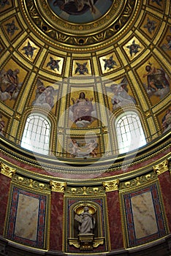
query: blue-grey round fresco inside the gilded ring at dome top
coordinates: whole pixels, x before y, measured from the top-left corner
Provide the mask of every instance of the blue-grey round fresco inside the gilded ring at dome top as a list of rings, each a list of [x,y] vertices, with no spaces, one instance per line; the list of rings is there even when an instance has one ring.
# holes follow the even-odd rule
[[[72,23],[88,23],[104,15],[113,0],[48,0],[53,12]]]

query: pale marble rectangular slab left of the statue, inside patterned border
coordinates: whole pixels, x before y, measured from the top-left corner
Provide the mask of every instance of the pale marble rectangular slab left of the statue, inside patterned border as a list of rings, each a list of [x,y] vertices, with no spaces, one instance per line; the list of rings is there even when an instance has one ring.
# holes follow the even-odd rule
[[[18,198],[15,236],[37,241],[39,199],[20,194]]]

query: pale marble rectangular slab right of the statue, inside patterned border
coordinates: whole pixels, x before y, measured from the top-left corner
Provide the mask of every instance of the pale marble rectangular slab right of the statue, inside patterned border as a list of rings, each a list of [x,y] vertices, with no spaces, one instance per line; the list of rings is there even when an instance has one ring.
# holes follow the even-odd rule
[[[131,200],[136,238],[156,233],[158,229],[151,192],[136,195]]]

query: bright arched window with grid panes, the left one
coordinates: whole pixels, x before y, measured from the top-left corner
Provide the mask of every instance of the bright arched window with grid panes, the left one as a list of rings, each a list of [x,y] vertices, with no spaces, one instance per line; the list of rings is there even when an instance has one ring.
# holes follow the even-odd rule
[[[31,114],[26,120],[20,146],[39,154],[48,154],[50,121],[39,114]]]

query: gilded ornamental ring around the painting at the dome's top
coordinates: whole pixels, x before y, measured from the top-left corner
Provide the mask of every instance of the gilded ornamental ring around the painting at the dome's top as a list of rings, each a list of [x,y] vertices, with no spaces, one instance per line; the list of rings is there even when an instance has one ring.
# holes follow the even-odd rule
[[[115,1],[113,7],[103,18],[95,19],[91,23],[76,24],[58,18],[58,15],[54,15],[45,1],[39,1],[38,5],[41,9],[39,12],[37,4],[34,2],[26,0],[26,4],[23,5],[23,8],[27,7],[26,11],[30,14],[31,23],[34,23],[39,31],[45,33],[44,36],[53,40],[58,39],[58,42],[65,42],[69,46],[80,45],[80,31],[84,45],[92,45],[109,39],[118,33],[127,22],[131,23],[130,18],[137,8],[137,1],[135,0]],[[42,17],[38,13],[42,13]],[[96,28],[100,28],[101,32],[99,33]],[[67,31],[68,33],[66,33]],[[89,34],[86,31],[94,33]]]

